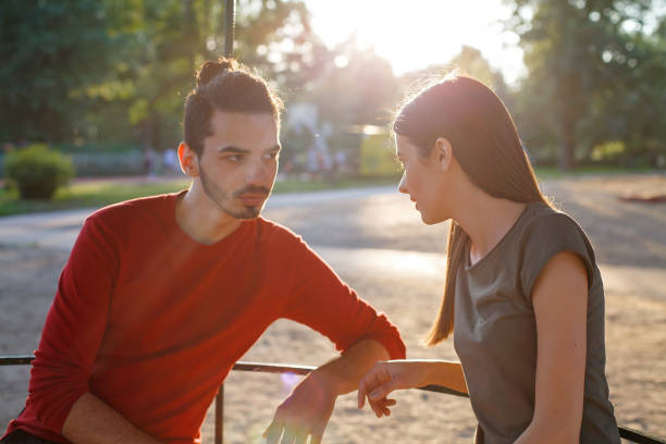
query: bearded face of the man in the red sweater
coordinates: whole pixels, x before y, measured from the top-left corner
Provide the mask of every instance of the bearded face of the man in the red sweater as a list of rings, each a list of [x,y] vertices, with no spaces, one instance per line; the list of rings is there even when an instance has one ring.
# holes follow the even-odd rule
[[[236,219],[259,215],[275,174],[280,141],[271,114],[215,111],[212,135],[197,158],[203,192],[220,209]]]

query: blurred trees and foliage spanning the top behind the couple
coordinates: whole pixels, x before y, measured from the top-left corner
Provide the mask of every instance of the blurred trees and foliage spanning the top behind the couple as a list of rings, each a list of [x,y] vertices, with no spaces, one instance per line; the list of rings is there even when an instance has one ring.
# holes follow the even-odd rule
[[[515,90],[469,47],[448,64],[395,78],[354,38],[326,48],[300,0],[238,0],[234,55],[279,84],[287,110],[316,103],[320,123],[341,130],[329,140],[335,149],[359,145],[335,140],[349,125],[387,123],[414,78],[458,66],[503,98],[539,163],[584,164],[594,147],[617,140],[624,153],[613,159],[659,164],[666,2],[505,2],[529,71]],[[222,54],[223,18],[222,0],[1,1],[0,143],[41,140],[77,152],[101,144],[175,147],[194,70]],[[293,141],[285,158],[307,148],[305,138]],[[348,159],[359,162],[357,152]]]

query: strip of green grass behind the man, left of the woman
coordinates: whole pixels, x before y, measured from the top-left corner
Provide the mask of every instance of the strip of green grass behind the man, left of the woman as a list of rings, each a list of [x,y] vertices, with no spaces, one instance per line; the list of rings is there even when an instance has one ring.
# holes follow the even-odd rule
[[[336,183],[286,180],[275,184],[273,193],[317,192],[332,188],[396,185],[396,177],[348,178]],[[0,188],[0,217],[74,208],[99,208],[137,197],[175,193],[189,186],[187,178],[157,181],[81,181],[59,189],[51,200],[21,200],[15,189]]]

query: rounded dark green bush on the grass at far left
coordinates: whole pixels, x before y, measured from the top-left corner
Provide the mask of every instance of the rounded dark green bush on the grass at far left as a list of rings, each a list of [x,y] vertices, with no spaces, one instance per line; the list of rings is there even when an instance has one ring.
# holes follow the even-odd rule
[[[4,177],[18,187],[22,199],[50,199],[73,176],[72,159],[42,144],[9,152],[4,159]]]

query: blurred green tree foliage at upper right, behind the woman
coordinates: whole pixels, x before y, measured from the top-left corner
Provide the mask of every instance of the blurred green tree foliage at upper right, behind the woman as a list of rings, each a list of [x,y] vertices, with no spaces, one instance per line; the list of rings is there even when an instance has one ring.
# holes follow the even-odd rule
[[[594,147],[621,141],[625,156],[656,165],[666,152],[664,1],[510,0],[529,75],[515,118],[531,153],[562,169]],[[661,5],[661,7],[659,7]],[[656,26],[650,26],[651,22]]]

